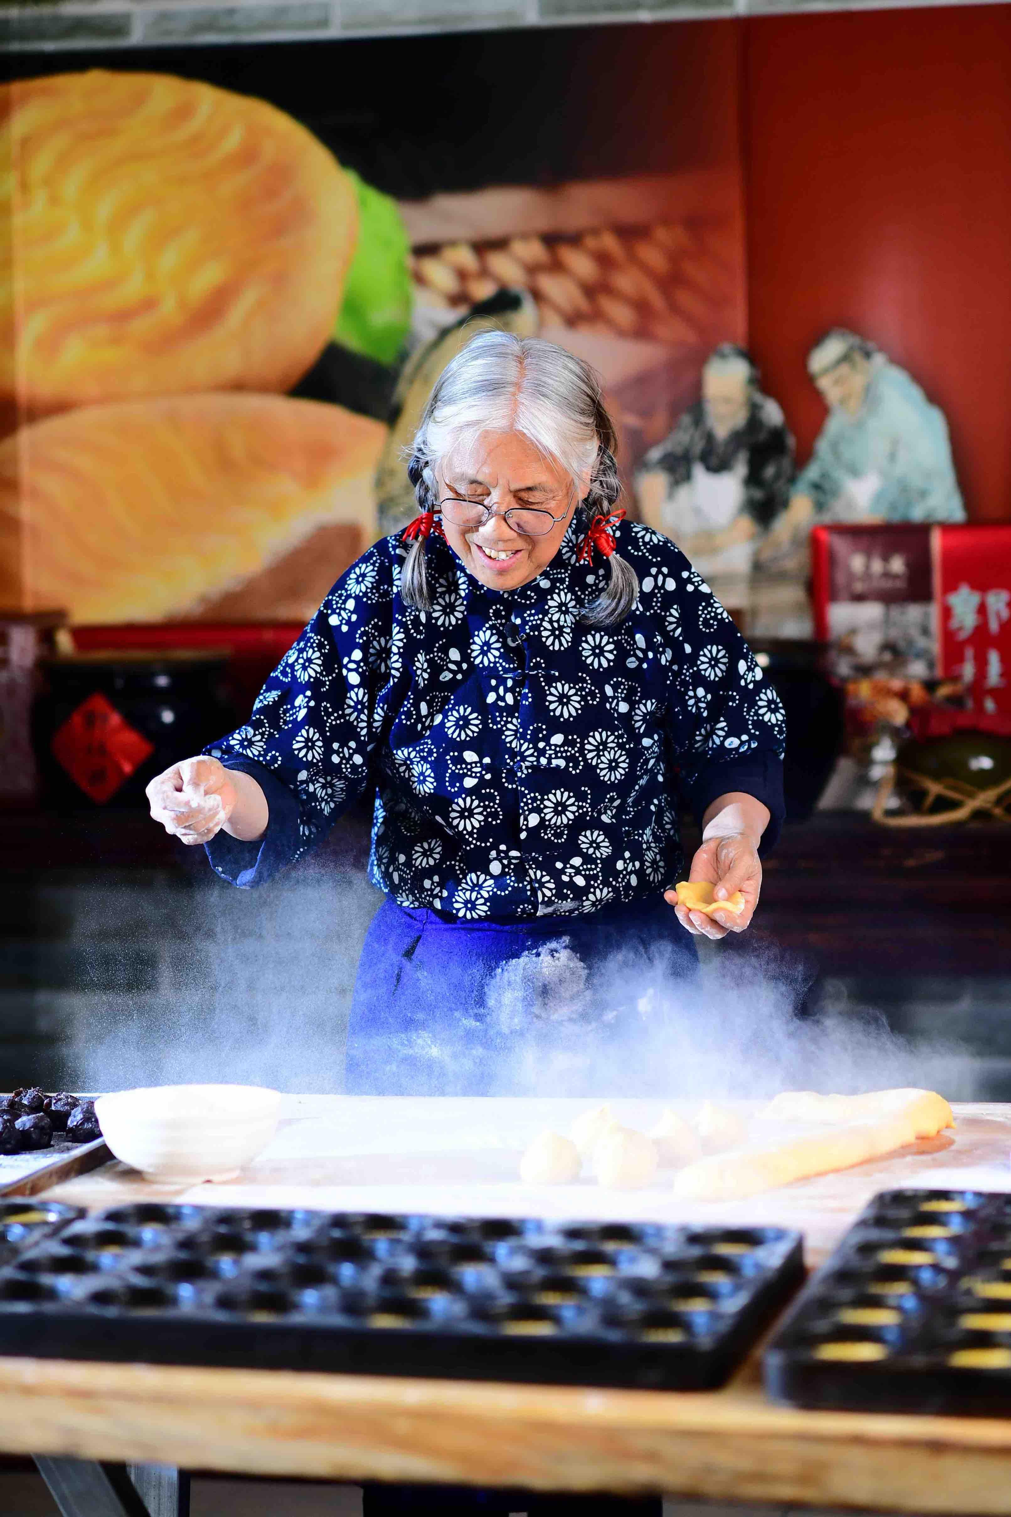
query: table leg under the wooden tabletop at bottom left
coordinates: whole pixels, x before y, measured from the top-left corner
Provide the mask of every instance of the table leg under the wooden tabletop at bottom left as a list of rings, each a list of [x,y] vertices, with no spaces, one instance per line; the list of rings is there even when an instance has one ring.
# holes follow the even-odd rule
[[[190,1476],[167,1464],[35,1455],[62,1517],[190,1517]]]

